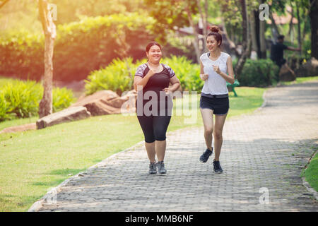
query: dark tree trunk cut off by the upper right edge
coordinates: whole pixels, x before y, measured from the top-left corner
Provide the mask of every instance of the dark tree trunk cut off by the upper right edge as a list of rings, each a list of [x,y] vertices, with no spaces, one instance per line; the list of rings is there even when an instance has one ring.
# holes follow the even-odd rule
[[[318,59],[318,0],[310,0],[310,25],[312,28],[312,57]]]

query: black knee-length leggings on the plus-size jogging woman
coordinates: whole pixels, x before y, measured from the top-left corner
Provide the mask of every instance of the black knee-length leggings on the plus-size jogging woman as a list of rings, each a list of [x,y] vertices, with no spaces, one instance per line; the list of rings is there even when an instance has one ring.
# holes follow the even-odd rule
[[[146,143],[153,143],[154,141],[165,141],[165,133],[169,125],[171,116],[137,116]]]

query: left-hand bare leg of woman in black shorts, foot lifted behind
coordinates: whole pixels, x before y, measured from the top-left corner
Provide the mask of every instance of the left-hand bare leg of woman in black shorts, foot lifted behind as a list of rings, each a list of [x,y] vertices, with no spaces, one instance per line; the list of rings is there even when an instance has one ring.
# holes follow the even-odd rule
[[[204,122],[204,138],[206,147],[212,150],[212,133],[213,133],[213,110],[208,108],[200,108],[202,119]]]

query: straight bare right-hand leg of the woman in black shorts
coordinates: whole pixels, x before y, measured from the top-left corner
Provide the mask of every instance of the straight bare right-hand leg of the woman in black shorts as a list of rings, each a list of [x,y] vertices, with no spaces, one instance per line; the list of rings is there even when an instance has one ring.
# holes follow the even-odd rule
[[[214,125],[214,131],[213,131],[214,151],[215,151],[214,160],[216,161],[219,161],[219,157],[220,157],[220,149],[223,143],[222,131],[223,131],[223,126],[224,126],[224,122],[227,115],[228,114],[216,115],[216,124]]]

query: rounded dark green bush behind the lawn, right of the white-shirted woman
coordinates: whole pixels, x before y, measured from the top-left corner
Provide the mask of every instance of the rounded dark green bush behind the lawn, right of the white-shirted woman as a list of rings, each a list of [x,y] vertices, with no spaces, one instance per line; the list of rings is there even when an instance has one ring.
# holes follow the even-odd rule
[[[240,78],[240,85],[266,87],[278,81],[278,66],[271,59],[247,59]]]

